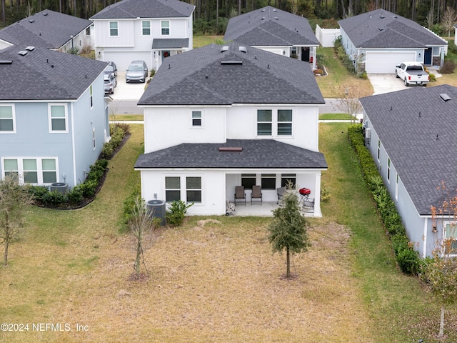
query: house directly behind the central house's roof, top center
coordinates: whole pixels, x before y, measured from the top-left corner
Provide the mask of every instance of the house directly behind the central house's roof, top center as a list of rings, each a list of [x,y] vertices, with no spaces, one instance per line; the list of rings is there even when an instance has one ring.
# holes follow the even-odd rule
[[[308,19],[271,6],[229,20],[224,41],[236,41],[275,54],[297,56],[316,69],[319,41]]]

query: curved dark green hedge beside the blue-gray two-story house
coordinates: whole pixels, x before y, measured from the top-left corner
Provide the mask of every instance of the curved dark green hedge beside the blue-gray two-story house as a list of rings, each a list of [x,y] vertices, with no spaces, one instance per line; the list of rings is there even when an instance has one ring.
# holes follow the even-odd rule
[[[89,204],[101,189],[106,173],[108,172],[108,159],[111,159],[122,146],[124,138],[130,134],[126,124],[110,126],[111,140],[101,149],[99,159],[91,165],[89,173],[83,183],[73,187],[69,192],[50,192],[45,186],[29,187],[34,204],[41,207],[54,209],[76,209]]]

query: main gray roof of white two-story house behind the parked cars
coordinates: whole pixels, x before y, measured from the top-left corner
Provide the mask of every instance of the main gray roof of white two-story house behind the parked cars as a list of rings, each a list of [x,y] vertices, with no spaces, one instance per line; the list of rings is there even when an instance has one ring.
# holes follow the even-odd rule
[[[194,9],[194,5],[178,0],[122,0],[105,7],[91,19],[186,18]]]

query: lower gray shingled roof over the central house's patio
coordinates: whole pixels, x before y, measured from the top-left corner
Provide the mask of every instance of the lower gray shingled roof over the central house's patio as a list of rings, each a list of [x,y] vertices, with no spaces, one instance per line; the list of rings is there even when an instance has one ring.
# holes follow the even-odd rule
[[[219,147],[239,146],[243,151],[219,151]],[[221,144],[185,143],[142,154],[135,168],[327,169],[327,162],[321,152],[273,139],[227,139]]]

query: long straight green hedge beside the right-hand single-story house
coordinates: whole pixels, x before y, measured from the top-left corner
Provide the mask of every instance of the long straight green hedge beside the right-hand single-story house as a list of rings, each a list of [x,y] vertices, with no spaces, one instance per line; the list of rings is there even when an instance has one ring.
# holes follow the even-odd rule
[[[383,179],[379,175],[370,151],[366,149],[361,124],[349,126],[348,139],[356,151],[363,178],[373,195],[379,217],[381,217],[386,232],[391,239],[398,267],[406,274],[417,275],[421,268],[421,259],[413,247],[413,242],[409,242],[406,229],[403,226],[403,222],[401,222],[395,203],[383,184]]]

